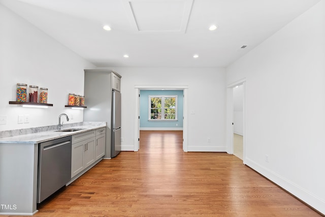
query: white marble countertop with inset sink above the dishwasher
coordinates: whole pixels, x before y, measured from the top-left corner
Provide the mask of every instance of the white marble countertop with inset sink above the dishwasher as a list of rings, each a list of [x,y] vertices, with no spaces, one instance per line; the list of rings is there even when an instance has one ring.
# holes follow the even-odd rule
[[[12,136],[12,137],[6,137],[0,139],[0,145],[1,144],[17,144],[17,143],[28,143],[28,144],[36,144],[41,142],[46,142],[53,139],[58,139],[66,136],[71,136],[99,128],[106,127],[106,122],[93,122],[86,125],[76,126],[76,127],[68,127],[68,128],[62,128],[63,129],[82,129],[75,132],[57,132],[57,130],[52,131],[44,131],[39,133],[31,133],[31,134],[25,134],[20,136]]]

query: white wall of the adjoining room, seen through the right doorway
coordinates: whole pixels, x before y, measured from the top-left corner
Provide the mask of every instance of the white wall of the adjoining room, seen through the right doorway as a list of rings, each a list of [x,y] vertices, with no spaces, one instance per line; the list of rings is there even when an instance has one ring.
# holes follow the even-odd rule
[[[233,88],[234,133],[243,136],[243,85]]]

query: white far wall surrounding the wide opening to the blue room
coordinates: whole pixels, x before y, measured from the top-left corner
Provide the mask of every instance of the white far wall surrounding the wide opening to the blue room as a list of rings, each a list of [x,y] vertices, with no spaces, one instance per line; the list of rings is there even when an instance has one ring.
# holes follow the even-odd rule
[[[114,68],[121,78],[122,149],[134,150],[135,86],[188,85],[188,151],[225,150],[223,68]],[[195,110],[195,114],[190,114]],[[211,142],[208,142],[208,138]]]

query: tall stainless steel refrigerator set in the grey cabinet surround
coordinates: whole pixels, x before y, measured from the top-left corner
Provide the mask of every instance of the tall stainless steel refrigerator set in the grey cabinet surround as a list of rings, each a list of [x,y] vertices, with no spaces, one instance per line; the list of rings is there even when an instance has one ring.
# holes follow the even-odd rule
[[[121,151],[121,93],[112,90],[111,158]]]

